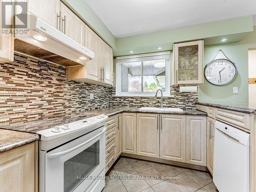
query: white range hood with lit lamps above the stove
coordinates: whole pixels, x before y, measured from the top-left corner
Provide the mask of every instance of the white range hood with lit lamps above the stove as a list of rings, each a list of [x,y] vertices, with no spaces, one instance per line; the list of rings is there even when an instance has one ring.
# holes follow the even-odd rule
[[[94,58],[92,51],[34,15],[28,14],[28,29],[28,35],[15,36],[15,51],[66,67]]]

